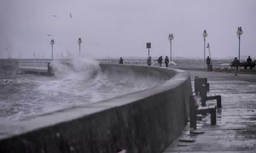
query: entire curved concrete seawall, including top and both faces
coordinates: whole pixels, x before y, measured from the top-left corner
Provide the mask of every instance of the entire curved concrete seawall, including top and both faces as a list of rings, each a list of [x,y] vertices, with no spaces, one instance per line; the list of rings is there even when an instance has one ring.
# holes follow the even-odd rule
[[[129,153],[160,153],[181,134],[192,94],[188,72],[138,65],[100,66],[114,82],[126,78],[125,85],[134,79],[160,84],[0,125],[0,152],[114,153],[121,148]]]

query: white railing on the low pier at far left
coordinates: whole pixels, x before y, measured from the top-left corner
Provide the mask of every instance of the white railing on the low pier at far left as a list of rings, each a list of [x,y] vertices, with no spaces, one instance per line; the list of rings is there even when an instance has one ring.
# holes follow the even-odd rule
[[[18,67],[48,69],[49,61],[19,61]]]

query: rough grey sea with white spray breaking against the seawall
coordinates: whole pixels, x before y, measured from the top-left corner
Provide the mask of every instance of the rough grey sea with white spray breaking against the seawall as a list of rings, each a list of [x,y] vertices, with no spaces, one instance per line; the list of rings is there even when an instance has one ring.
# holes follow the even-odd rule
[[[54,76],[17,73],[18,61],[18,59],[0,59],[0,124],[152,88],[146,84],[136,85],[135,83],[131,87],[124,87],[123,82],[109,82],[99,64],[95,62],[111,61],[111,64],[118,64],[119,59],[96,59],[95,61],[84,58],[75,59],[73,71],[56,63],[53,64],[56,70]],[[44,59],[44,61],[50,60]],[[125,63],[126,61],[146,61],[146,59],[123,59],[123,61]],[[158,66],[156,59],[152,61],[154,66]],[[231,61],[213,60],[213,68],[229,67]],[[162,66],[165,67],[165,64]],[[172,60],[172,68],[189,67],[202,68],[204,60]]]

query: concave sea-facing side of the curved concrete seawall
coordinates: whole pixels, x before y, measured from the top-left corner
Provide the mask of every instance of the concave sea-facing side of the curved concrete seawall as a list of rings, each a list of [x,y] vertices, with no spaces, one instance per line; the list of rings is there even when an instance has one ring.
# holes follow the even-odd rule
[[[123,82],[126,87],[134,84],[154,87],[175,75],[175,71],[161,71],[159,67],[125,64],[100,64],[100,66],[111,82]]]

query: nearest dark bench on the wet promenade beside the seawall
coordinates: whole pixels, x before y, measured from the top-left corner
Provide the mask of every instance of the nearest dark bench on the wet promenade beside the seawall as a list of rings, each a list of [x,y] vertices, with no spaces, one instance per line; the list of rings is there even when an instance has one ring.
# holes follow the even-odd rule
[[[197,105],[197,96],[196,93],[193,93],[189,97],[189,103],[190,103],[190,128],[197,128],[197,115],[198,114],[205,114],[210,113],[211,114],[211,124],[216,124],[216,106],[204,106],[204,107],[198,107]]]

